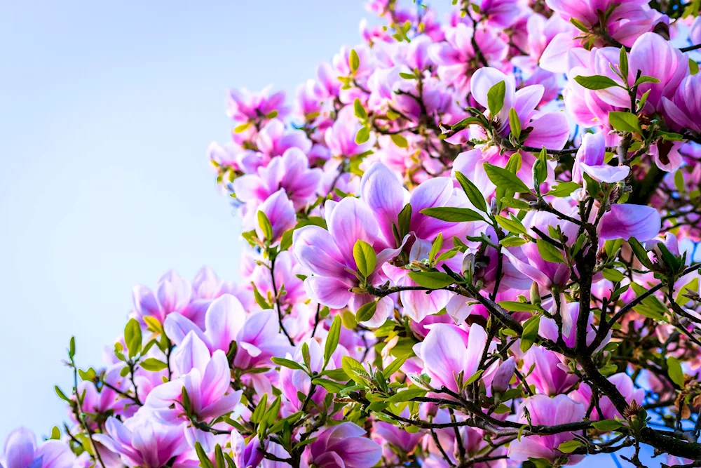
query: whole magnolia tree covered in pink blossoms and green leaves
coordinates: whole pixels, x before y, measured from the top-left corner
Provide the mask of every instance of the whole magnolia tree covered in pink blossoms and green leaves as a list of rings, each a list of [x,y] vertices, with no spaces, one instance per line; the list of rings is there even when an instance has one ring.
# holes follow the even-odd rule
[[[229,93],[244,281],[137,286],[5,468],[701,466],[700,2],[453,4]]]

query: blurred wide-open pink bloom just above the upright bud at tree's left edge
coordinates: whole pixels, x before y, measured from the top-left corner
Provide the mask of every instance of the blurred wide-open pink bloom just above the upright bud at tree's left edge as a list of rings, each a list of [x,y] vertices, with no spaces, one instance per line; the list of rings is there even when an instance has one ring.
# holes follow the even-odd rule
[[[306,154],[299,148],[290,148],[258,168],[256,174],[236,178],[233,190],[237,199],[258,205],[285,189],[294,207],[301,208],[315,195],[320,178],[321,169],[310,169]]]

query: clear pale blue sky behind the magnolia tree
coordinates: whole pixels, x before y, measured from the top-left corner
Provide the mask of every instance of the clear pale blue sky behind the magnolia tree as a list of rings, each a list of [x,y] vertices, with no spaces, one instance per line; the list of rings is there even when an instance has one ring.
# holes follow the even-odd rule
[[[67,419],[69,338],[99,365],[132,286],[202,265],[237,278],[239,223],[205,155],[229,138],[226,89],[291,97],[368,16],[357,0],[0,4],[0,443]]]

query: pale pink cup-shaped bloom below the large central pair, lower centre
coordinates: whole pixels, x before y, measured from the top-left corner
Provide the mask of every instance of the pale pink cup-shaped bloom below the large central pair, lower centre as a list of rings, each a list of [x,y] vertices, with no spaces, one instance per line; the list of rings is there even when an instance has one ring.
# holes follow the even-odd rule
[[[473,324],[467,330],[447,323],[436,323],[426,338],[416,345],[416,355],[423,360],[423,371],[431,385],[459,393],[457,378],[463,382],[477,372],[479,358],[487,345],[484,328]]]

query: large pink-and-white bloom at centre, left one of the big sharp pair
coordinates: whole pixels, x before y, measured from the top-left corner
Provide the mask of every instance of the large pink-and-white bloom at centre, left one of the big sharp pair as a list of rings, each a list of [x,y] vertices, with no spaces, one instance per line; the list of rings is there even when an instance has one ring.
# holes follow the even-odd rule
[[[304,280],[307,294],[315,302],[340,309],[353,297],[350,289],[358,286],[358,278],[348,271],[356,270],[353,246],[362,240],[373,246],[377,262],[367,275],[370,284],[381,278],[382,265],[400,253],[401,248],[384,248],[379,242],[379,225],[372,210],[360,199],[348,196],[339,203],[327,201],[325,213],[329,230],[305,226],[293,234],[294,255],[314,276]]]

